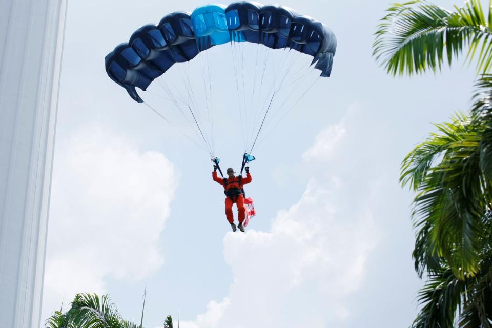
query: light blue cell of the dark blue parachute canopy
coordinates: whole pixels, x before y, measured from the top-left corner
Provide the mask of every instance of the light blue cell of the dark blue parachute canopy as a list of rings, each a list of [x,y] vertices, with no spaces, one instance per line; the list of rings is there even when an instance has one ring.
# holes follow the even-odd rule
[[[196,8],[191,14],[191,22],[200,51],[231,41],[224,5],[206,5]]]

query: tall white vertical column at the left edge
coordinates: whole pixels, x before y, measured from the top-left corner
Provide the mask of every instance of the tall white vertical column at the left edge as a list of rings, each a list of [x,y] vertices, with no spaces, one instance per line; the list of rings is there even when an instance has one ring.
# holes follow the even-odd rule
[[[2,328],[41,319],[66,1],[0,0]]]

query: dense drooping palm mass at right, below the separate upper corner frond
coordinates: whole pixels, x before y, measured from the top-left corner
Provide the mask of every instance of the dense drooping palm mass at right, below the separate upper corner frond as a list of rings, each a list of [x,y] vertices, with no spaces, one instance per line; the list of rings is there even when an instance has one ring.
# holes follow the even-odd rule
[[[485,91],[482,94],[480,91]],[[402,163],[417,192],[415,269],[427,282],[415,327],[490,327],[492,319],[492,76],[469,115],[438,124]],[[456,317],[457,310],[461,314]]]

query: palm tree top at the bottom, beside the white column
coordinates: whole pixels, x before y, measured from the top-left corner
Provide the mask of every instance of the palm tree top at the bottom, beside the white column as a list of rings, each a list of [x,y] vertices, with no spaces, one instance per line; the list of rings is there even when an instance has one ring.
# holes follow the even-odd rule
[[[145,295],[144,295],[145,306]],[[142,321],[144,310],[142,309]],[[169,325],[170,322],[170,325]],[[166,318],[165,328],[172,328],[172,318]],[[77,294],[66,313],[55,311],[46,321],[46,328],[142,328],[142,322],[124,320],[108,295]]]

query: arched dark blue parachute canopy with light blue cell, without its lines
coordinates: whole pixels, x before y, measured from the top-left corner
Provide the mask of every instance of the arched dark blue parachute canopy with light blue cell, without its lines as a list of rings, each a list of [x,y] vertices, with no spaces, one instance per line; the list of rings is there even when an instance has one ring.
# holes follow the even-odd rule
[[[175,63],[193,59],[200,51],[228,42],[261,43],[272,49],[290,48],[313,56],[312,65],[328,77],[333,66],[335,34],[312,17],[293,9],[238,1],[174,12],[157,26],[135,31],[129,43],[106,56],[106,72],[130,96],[142,103],[135,87],[146,90]]]

